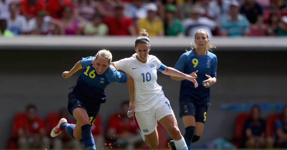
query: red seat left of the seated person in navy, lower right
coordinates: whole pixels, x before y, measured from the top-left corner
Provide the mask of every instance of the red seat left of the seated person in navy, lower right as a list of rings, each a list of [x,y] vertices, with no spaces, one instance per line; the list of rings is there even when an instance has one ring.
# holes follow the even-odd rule
[[[240,143],[242,142],[245,120],[250,116],[250,113],[241,113],[236,118],[234,126],[234,135],[231,142],[235,146],[237,146],[237,148],[240,147]]]

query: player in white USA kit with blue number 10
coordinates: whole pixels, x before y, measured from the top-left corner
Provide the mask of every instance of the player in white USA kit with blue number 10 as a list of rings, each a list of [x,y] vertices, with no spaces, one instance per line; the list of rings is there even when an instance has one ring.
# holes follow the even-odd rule
[[[198,84],[194,77],[167,67],[153,55],[149,55],[151,50],[148,33],[141,29],[135,40],[135,54],[130,58],[125,58],[111,65],[117,70],[122,70],[131,76],[135,84],[135,100],[130,101],[130,108],[135,107],[135,122],[138,124],[144,141],[150,148],[158,146],[157,120],[165,127],[173,138],[176,149],[187,150],[186,143],[181,135],[173,110],[169,100],[165,97],[162,87],[157,84],[157,71],[170,76],[178,76]]]

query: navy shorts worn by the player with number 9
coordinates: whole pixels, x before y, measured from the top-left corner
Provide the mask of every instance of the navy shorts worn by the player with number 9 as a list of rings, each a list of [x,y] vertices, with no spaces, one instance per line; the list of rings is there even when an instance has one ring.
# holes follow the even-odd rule
[[[207,105],[198,105],[191,101],[180,101],[179,117],[192,115],[195,117],[195,122],[205,123],[207,108]]]

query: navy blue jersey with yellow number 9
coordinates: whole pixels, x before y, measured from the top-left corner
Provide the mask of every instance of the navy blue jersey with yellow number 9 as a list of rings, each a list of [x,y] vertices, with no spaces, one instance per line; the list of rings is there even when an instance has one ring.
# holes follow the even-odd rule
[[[208,78],[205,74],[216,77],[217,57],[212,52],[207,51],[203,56],[197,55],[194,50],[183,53],[178,59],[175,69],[185,74],[190,74],[197,71],[198,87],[195,88],[194,84],[188,80],[181,81],[180,87],[180,101],[186,100],[186,96],[190,97],[190,101],[199,105],[209,105],[209,88],[202,85],[204,80]],[[185,97],[181,99],[181,97]]]

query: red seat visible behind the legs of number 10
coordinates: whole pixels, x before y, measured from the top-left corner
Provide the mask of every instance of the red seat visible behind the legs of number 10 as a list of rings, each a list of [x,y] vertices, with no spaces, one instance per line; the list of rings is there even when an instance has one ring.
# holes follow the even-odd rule
[[[170,141],[170,138],[168,137],[168,133],[165,127],[160,122],[157,122],[157,132],[158,132],[158,146],[156,149],[167,149],[168,141]],[[150,149],[150,148],[146,143],[144,143],[143,146],[141,146],[141,149]]]

